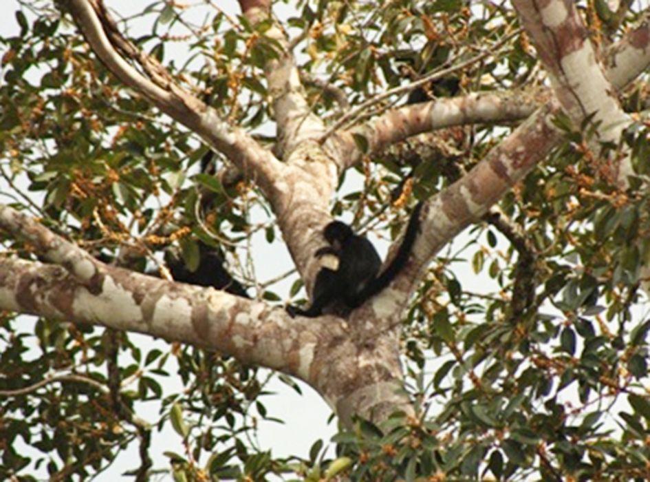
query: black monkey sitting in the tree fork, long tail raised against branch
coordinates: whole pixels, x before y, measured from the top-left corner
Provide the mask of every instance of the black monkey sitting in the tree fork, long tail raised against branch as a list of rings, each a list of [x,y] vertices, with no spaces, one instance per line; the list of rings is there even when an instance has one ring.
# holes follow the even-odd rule
[[[406,264],[420,227],[422,202],[413,209],[404,240],[389,266],[379,273],[382,260],[373,244],[355,234],[345,222],[332,221],[323,230],[328,247],[316,251],[317,258],[334,255],[338,266],[323,266],[314,282],[312,304],[307,310],[288,306],[291,316],[316,317],[324,308],[345,308],[347,311],[363,304],[365,300],[386,288]]]

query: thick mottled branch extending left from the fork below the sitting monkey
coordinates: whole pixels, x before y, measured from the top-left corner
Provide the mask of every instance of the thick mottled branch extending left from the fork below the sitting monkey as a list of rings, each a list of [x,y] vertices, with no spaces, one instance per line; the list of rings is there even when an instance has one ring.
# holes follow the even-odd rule
[[[282,308],[224,291],[105,271],[87,286],[59,266],[0,258],[0,308],[218,350],[305,380],[321,343],[345,333],[334,317],[290,319]]]

